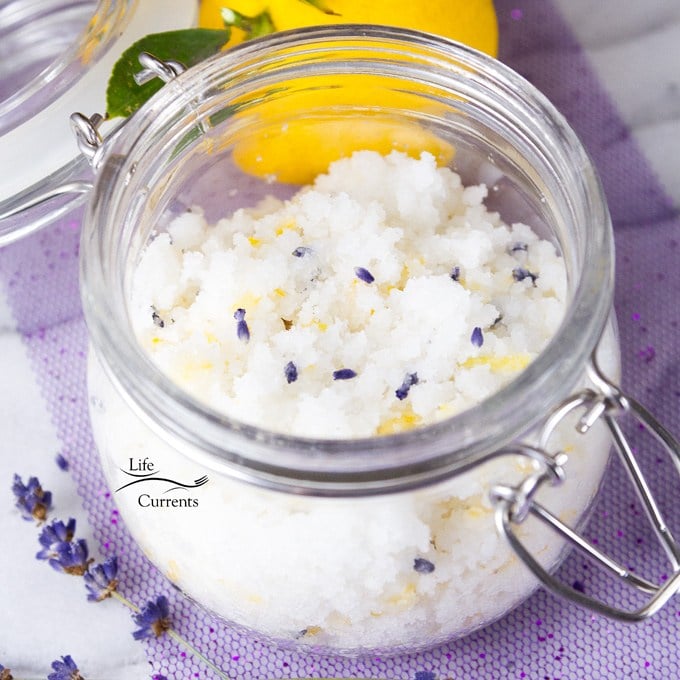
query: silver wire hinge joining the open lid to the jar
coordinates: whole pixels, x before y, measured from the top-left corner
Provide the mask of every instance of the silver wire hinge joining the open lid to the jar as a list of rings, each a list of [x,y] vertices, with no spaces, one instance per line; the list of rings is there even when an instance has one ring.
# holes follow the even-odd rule
[[[134,76],[135,82],[138,85],[143,85],[154,78],[160,78],[168,83],[186,70],[186,66],[178,61],[163,61],[148,52],[142,52],[139,55],[139,63],[142,66],[142,70]],[[71,129],[76,137],[78,149],[96,172],[106,155],[104,151],[104,138],[99,131],[106,118],[99,113],[88,117],[77,112],[73,113],[70,118]],[[113,139],[123,129],[125,123],[126,121],[123,121],[118,125],[110,133],[107,141]],[[9,208],[0,212],[0,220],[15,217],[60,196],[89,193],[93,186],[90,180],[80,179],[69,181],[68,183],[60,184],[41,192],[19,196]],[[24,194],[26,193],[24,192]],[[43,223],[41,222],[41,224]]]

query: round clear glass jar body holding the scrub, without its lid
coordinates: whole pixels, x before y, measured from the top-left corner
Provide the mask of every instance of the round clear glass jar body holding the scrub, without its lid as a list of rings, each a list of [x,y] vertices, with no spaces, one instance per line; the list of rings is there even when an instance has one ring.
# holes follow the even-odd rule
[[[357,75],[370,84],[360,95]],[[465,183],[491,186],[506,222],[557,245],[564,319],[508,385],[435,424],[337,440],[236,421],[174,384],[136,340],[140,255],[187,207],[228,215],[289,193],[238,169],[243,140],[366,118],[435,133]],[[540,93],[433,36],[308,29],[170,80],[101,152],[82,242],[92,425],[121,515],[177,587],[259,636],[345,654],[431,646],[502,616],[536,576],[553,587],[576,542],[566,523],[578,527],[605,471],[609,414],[628,402],[603,377],[618,375],[619,356],[602,189]],[[524,521],[546,507],[547,522]]]

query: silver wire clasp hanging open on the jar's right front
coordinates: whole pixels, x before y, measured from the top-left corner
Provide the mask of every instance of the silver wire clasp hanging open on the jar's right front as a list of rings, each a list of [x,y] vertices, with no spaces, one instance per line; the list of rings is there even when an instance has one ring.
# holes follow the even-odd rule
[[[647,480],[633,456],[618,418],[621,415],[628,414],[643,425],[671,457],[679,474],[680,443],[649,411],[634,399],[624,395],[617,385],[604,376],[594,356],[588,367],[588,376],[595,389],[583,390],[568,398],[555,409],[545,421],[536,446],[519,444],[503,451],[504,454],[530,456],[533,460],[539,462],[539,469],[516,486],[499,484],[492,488],[490,495],[495,506],[496,528],[505,536],[515,553],[531,569],[539,581],[555,594],[610,618],[622,621],[640,621],[656,613],[680,591],[680,546],[659,510]],[[565,417],[579,409],[583,413],[576,424],[578,432],[586,433],[599,420],[604,421],[609,429],[618,458],[623,463],[635,492],[642,501],[650,524],[671,564],[672,573],[664,583],[653,583],[633,574],[629,569],[583,538],[578,532],[564,524],[538,503],[535,498],[538,490],[546,483],[555,485],[561,483],[564,479],[562,466],[566,457],[562,452],[551,454],[549,452],[549,440],[555,428]],[[556,579],[527,550],[515,531],[515,527],[524,522],[529,515],[541,520],[568,544],[586,554],[607,573],[614,575],[628,586],[648,596],[646,604],[636,610],[617,608],[589,597]]]

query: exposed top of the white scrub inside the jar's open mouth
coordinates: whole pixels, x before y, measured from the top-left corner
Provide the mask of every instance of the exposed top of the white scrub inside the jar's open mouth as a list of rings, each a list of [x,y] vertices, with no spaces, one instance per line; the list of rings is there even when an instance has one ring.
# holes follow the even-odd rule
[[[158,367],[214,409],[306,437],[446,418],[524,368],[562,317],[553,245],[423,154],[360,152],[291,200],[148,246],[131,314]]]

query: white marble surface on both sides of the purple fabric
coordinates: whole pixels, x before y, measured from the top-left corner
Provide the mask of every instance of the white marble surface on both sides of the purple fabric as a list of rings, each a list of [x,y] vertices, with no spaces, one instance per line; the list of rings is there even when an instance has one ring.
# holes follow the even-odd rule
[[[518,3],[521,4],[521,3]],[[557,0],[623,119],[676,205],[680,206],[680,1]],[[60,516],[80,518],[68,475],[24,348],[0,299],[0,482],[21,461],[55,493]],[[6,499],[3,491],[0,496]],[[93,605],[82,583],[34,559],[35,528],[0,503],[0,663],[16,678],[44,678],[49,662],[70,653],[92,679],[149,677],[144,648],[132,640],[129,614],[117,603]],[[87,532],[86,534],[87,535]],[[94,545],[94,541],[92,541]],[[64,612],[68,610],[68,616]]]

